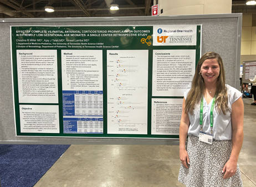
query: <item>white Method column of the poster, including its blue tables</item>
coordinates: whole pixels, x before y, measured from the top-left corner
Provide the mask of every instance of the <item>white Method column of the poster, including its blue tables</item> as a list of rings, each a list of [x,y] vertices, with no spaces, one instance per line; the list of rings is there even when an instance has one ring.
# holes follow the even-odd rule
[[[103,133],[102,50],[62,50],[64,133]]]

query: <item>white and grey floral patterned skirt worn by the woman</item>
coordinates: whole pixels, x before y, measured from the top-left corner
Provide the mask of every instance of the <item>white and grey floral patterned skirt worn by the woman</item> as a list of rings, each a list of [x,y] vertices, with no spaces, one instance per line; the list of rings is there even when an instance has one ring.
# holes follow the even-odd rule
[[[227,163],[232,150],[232,141],[216,141],[212,144],[188,136],[187,152],[190,167],[181,164],[178,181],[187,187],[240,187],[243,186],[240,170],[228,179],[223,179],[222,169]]]

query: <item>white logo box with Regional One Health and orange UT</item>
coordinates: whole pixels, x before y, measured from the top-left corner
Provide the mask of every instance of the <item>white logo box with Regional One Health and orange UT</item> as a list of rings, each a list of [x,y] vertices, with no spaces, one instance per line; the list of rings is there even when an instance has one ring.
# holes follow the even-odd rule
[[[196,45],[197,25],[154,25],[153,45]]]

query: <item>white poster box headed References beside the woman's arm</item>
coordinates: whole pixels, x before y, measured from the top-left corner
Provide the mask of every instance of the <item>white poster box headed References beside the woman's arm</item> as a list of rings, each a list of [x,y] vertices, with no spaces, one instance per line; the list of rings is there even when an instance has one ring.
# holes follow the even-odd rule
[[[178,135],[183,98],[152,98],[151,134]]]

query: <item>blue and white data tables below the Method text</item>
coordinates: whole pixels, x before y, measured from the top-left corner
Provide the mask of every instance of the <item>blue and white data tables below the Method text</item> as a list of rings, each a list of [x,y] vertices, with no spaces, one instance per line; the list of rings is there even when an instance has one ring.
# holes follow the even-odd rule
[[[103,91],[63,91],[64,133],[103,133]]]

